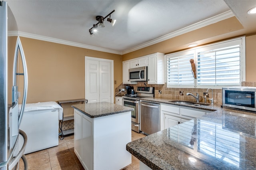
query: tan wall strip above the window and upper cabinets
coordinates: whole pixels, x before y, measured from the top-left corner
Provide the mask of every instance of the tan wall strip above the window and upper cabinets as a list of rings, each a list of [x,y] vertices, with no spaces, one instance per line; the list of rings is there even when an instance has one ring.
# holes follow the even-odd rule
[[[242,30],[243,28],[244,27],[240,24],[236,17],[228,18],[226,20],[205,26],[203,28],[199,28],[180,36],[170,38],[163,42],[156,43],[154,45],[150,45],[130,53],[126,53],[123,55],[123,61],[156,52],[165,54],[172,53],[174,51],[187,49],[188,45],[191,43],[198,43],[202,45],[220,41],[225,38],[236,36],[234,32]]]

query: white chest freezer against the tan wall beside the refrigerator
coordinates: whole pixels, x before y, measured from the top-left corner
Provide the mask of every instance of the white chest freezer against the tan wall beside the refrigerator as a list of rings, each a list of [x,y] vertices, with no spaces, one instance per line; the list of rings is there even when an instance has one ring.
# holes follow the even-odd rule
[[[20,129],[27,136],[28,141],[24,154],[36,152],[59,143],[59,120],[62,120],[63,109],[56,102],[42,102],[26,104]],[[19,147],[23,144],[20,137]]]

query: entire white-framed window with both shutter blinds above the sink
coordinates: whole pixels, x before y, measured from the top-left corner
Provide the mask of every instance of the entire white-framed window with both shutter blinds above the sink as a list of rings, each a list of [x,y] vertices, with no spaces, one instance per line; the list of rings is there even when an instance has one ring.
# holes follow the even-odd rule
[[[167,87],[222,88],[245,81],[245,37],[166,55]],[[190,59],[196,63],[194,79]]]

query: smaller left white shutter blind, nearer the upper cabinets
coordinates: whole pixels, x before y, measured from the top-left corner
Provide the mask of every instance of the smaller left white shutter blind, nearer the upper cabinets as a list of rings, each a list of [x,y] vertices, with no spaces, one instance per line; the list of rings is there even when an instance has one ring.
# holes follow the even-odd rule
[[[166,56],[167,85],[194,85],[190,59],[194,59],[194,51]]]

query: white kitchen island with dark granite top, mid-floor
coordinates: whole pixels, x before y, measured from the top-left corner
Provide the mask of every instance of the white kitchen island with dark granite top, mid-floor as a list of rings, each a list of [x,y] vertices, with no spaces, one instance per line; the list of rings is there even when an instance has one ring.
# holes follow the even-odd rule
[[[72,105],[74,152],[86,170],[120,170],[131,164],[131,111],[108,102]]]

